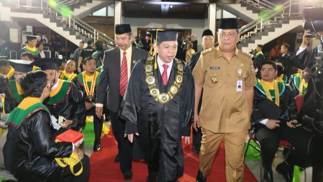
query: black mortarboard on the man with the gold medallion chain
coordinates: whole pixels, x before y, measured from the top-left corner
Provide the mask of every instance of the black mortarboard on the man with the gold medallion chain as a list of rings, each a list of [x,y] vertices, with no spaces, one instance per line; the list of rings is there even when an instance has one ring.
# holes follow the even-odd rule
[[[177,41],[178,32],[182,30],[176,30],[176,29],[170,29],[170,30],[164,30],[164,29],[154,29],[150,30],[149,32],[153,35],[153,37],[156,37],[157,43],[163,42],[163,41]]]

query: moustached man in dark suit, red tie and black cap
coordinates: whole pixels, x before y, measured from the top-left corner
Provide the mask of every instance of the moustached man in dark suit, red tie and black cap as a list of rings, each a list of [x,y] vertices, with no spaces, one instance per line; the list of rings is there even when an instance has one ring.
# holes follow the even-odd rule
[[[103,104],[107,98],[107,109],[110,110],[113,134],[118,142],[118,155],[115,162],[120,161],[120,168],[126,180],[132,178],[132,145],[125,134],[125,121],[118,117],[131,70],[137,60],[148,56],[146,51],[131,46],[133,34],[129,24],[118,24],[115,29],[117,48],[105,51],[103,67],[97,86],[96,115],[101,118]],[[100,144],[96,144],[100,148]]]

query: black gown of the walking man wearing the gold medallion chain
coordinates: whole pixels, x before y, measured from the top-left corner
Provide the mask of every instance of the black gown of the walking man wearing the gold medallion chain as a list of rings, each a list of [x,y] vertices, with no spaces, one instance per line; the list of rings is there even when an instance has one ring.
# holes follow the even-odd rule
[[[181,136],[190,135],[193,121],[195,92],[193,76],[182,61],[184,82],[179,93],[167,104],[160,104],[149,95],[145,81],[145,62],[146,60],[140,60],[136,63],[128,82],[121,111],[121,117],[126,120],[125,133],[139,133],[139,136],[134,136],[134,158],[148,160],[149,166],[154,165],[152,170],[157,171],[159,168],[158,172],[165,175],[165,179],[161,181],[175,181],[183,175]],[[160,88],[160,93],[170,89],[176,73],[177,62],[174,61],[168,85],[164,86],[159,69],[153,70],[155,84]]]

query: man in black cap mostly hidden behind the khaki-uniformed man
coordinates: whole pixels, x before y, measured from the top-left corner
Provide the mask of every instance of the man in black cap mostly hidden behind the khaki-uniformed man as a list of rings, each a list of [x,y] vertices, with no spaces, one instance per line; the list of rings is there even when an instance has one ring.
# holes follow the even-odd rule
[[[214,37],[213,37],[212,30],[206,29],[206,30],[203,31],[201,43],[202,43],[203,50],[201,50],[201,51],[199,51],[197,53],[194,53],[192,55],[192,58],[191,58],[189,64],[188,64],[191,71],[193,71],[193,69],[194,69],[194,67],[195,67],[195,65],[197,63],[198,58],[200,58],[201,52],[213,47]],[[201,110],[201,103],[202,103],[202,98],[200,99],[200,102],[198,104],[198,114],[199,114],[199,111]],[[202,141],[201,128],[198,127],[197,131],[195,129],[193,129],[193,143],[192,143],[193,146],[194,146],[194,148],[192,149],[193,153],[199,153],[200,152],[201,141]]]

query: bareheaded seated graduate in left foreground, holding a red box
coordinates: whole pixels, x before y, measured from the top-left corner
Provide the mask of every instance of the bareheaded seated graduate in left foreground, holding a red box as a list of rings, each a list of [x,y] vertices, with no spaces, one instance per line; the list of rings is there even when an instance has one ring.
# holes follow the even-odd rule
[[[50,88],[46,74],[29,72],[19,84],[26,98],[7,119],[8,135],[3,149],[6,169],[19,181],[88,181],[89,158],[77,145],[56,143],[51,137],[50,114],[43,100]],[[82,162],[82,172],[74,176],[70,167],[61,167],[55,158],[70,157],[74,152]],[[83,158],[84,157],[84,158]],[[81,168],[80,163],[74,171]]]

